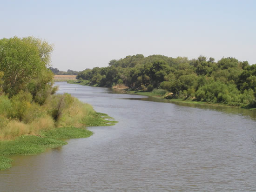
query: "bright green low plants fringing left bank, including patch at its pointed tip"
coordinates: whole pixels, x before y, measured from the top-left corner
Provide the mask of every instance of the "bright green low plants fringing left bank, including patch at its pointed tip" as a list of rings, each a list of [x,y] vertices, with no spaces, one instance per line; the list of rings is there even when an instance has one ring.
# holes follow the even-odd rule
[[[87,126],[112,126],[117,121],[104,113],[94,113],[84,117],[83,122]],[[13,140],[0,141],[0,170],[12,166],[12,159],[5,156],[20,154],[33,155],[44,152],[48,148],[66,145],[62,139],[86,138],[93,132],[84,127],[59,127],[50,130],[42,130],[37,135],[22,135]]]

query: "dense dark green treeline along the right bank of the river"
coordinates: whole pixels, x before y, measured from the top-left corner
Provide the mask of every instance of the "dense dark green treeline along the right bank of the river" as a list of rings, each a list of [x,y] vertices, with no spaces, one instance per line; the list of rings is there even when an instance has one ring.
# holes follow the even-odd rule
[[[77,79],[90,85],[111,87],[124,84],[131,90],[163,89],[169,98],[256,107],[256,64],[235,58],[218,62],[199,56],[171,58],[142,54],[109,61],[108,67],[86,69]]]

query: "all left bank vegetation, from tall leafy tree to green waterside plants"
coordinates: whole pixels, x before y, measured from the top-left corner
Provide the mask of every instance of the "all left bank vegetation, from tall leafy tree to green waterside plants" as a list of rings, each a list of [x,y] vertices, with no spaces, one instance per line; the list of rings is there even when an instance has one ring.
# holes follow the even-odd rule
[[[11,155],[36,154],[89,137],[86,126],[116,123],[70,94],[55,94],[48,69],[53,46],[34,37],[0,40],[0,170]]]

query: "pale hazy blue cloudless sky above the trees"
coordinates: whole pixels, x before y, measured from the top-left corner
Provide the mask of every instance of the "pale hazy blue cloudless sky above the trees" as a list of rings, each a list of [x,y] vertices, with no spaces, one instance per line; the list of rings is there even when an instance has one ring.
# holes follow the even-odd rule
[[[162,54],[256,64],[256,0],[0,0],[0,39],[54,45],[62,71]]]

